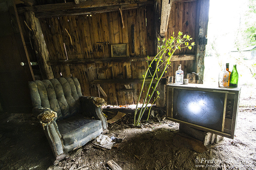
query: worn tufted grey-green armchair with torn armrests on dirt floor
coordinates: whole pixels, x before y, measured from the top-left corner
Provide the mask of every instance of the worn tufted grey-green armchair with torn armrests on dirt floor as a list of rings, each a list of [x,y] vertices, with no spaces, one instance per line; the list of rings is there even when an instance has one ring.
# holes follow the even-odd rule
[[[67,152],[83,146],[101,133],[107,122],[104,99],[82,96],[78,80],[58,78],[29,82],[33,114],[41,121],[58,164]]]

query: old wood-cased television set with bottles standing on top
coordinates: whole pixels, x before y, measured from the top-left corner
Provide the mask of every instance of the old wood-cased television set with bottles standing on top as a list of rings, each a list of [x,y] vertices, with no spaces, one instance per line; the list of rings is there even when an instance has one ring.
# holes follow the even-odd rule
[[[240,87],[167,85],[168,120],[234,138]]]

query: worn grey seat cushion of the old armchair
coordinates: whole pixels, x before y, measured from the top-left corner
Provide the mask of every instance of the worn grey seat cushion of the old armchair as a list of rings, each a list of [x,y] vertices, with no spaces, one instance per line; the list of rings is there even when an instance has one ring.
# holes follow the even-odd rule
[[[76,143],[102,129],[100,120],[86,119],[81,114],[60,120],[56,123],[59,127],[64,146]]]

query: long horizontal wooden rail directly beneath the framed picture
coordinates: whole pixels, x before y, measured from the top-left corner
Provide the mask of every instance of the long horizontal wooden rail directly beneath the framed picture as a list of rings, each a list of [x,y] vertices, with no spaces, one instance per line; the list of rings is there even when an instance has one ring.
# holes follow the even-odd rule
[[[149,57],[149,61],[152,61],[154,57]],[[194,60],[194,54],[181,54],[174,55],[171,61],[184,61]],[[71,64],[92,64],[92,63],[114,63],[114,62],[136,62],[147,61],[148,57],[113,57],[113,58],[93,58],[93,59],[80,59],[80,60],[50,60],[47,61],[48,65],[71,65]]]

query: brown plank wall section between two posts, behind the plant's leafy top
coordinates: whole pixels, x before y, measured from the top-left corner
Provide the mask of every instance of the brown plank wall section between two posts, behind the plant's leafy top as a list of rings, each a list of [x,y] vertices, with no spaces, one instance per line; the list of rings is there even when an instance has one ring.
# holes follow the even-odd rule
[[[168,25],[168,38],[173,36],[173,32],[177,36],[178,32],[181,31],[183,34],[190,35],[193,38],[190,43],[195,42],[196,7],[196,1],[176,2],[172,4]],[[184,48],[181,51],[177,51],[176,54],[195,54],[195,47],[192,47],[191,50]],[[182,66],[185,78],[187,73],[194,72],[195,70],[195,60],[173,61],[171,67],[168,68],[166,76],[175,76],[179,64]]]

